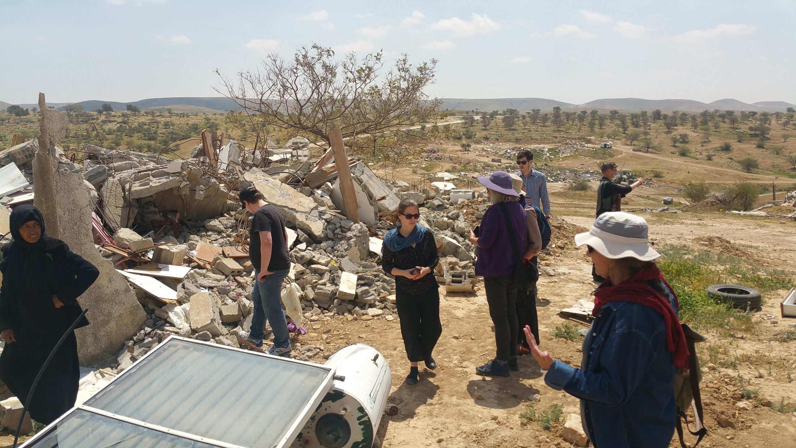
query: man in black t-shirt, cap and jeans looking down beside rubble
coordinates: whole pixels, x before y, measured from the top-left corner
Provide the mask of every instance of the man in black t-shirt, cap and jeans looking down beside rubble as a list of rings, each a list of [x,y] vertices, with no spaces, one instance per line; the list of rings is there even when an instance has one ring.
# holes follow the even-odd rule
[[[265,321],[269,320],[274,332],[274,345],[267,353],[288,356],[292,348],[281,296],[282,281],[291,268],[287,255],[285,218],[279,210],[265,202],[265,197],[255,187],[240,191],[239,197],[244,208],[254,215],[252,229],[249,230],[249,257],[256,280],[252,291],[252,328],[248,332],[240,332],[238,336],[256,347],[262,346]]]

